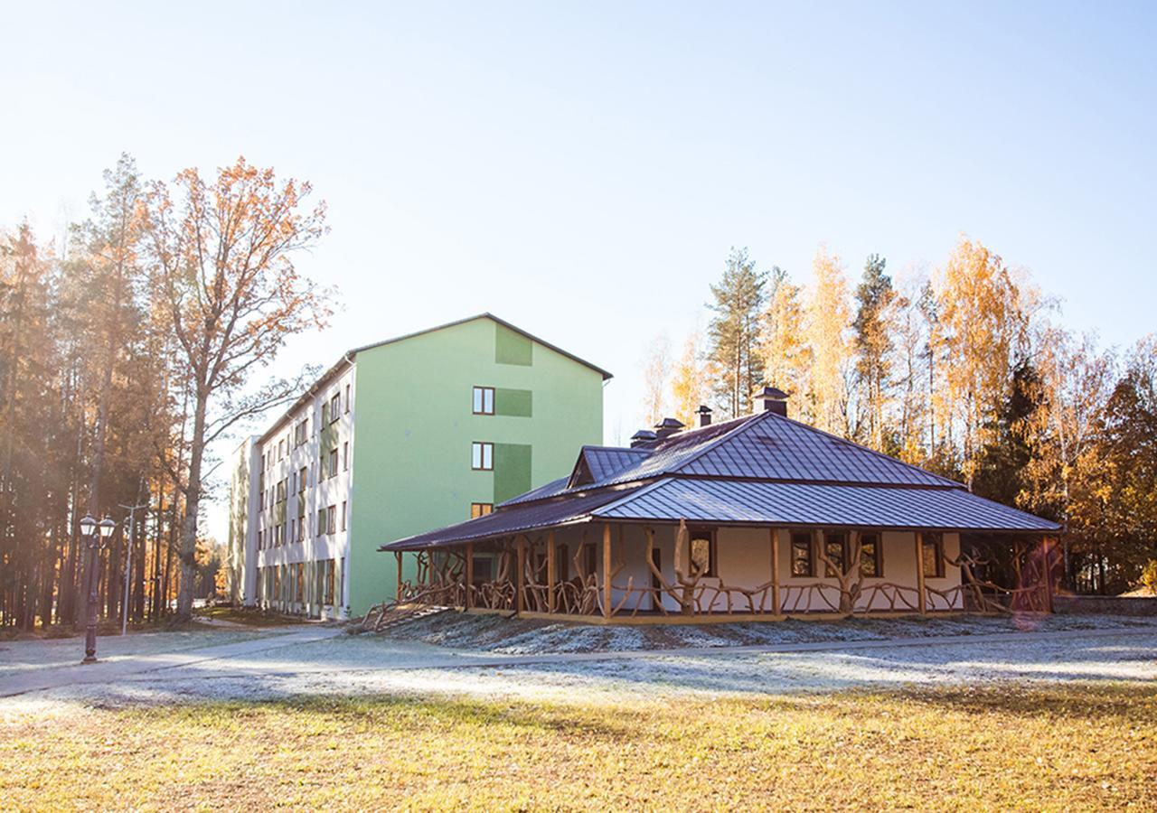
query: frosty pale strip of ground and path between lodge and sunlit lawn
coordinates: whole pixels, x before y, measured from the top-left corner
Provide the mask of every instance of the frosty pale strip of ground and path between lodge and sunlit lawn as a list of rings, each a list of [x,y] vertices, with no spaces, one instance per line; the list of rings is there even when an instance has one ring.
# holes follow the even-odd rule
[[[45,668],[0,700],[0,717],[75,704],[278,700],[324,694],[443,694],[622,702],[656,696],[825,692],[1002,680],[1157,681],[1157,626],[988,629],[966,635],[783,641],[665,651],[511,656],[421,641],[279,628],[248,641]],[[10,644],[9,644],[10,645]],[[0,653],[7,655],[7,653]],[[105,671],[108,670],[108,671]],[[79,677],[78,677],[79,675]],[[28,674],[20,675],[28,679]],[[50,679],[45,679],[50,678]],[[13,695],[13,680],[0,694]]]

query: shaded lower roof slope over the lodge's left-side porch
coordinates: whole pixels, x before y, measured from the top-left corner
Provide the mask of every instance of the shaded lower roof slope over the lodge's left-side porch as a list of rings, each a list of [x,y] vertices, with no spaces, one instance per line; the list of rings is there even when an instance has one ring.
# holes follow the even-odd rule
[[[378,550],[417,550],[420,548],[459,545],[474,539],[493,539],[511,533],[522,533],[543,527],[557,527],[570,523],[589,522],[590,512],[599,505],[620,500],[634,488],[604,488],[594,494],[580,494],[566,500],[547,500],[511,505],[485,517],[469,519],[457,525],[419,533],[383,545]]]

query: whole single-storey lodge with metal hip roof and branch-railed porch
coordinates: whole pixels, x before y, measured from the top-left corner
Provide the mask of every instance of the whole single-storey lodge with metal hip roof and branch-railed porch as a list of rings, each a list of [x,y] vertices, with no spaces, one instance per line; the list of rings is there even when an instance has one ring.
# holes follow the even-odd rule
[[[383,546],[399,574],[418,560],[398,603],[595,623],[1051,611],[1060,526],[757,398],[584,446],[567,478]],[[987,576],[994,546],[1015,584]]]

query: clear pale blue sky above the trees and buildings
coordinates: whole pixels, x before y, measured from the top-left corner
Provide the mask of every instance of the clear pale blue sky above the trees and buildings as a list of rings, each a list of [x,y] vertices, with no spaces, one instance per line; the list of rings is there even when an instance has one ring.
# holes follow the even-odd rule
[[[286,364],[491,310],[617,374],[613,441],[731,245],[806,281],[961,231],[1157,330],[1154,3],[101,6],[5,9],[0,224],[59,234],[121,150],[308,178],[345,309]]]

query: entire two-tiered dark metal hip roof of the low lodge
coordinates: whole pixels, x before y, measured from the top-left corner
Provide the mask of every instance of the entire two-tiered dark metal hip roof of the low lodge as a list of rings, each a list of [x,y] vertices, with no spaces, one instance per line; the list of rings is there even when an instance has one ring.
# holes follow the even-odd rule
[[[723,525],[1047,533],[1055,523],[772,411],[644,446],[583,446],[569,478],[494,513],[382,549],[450,545],[613,519]]]

